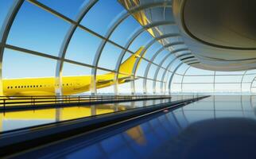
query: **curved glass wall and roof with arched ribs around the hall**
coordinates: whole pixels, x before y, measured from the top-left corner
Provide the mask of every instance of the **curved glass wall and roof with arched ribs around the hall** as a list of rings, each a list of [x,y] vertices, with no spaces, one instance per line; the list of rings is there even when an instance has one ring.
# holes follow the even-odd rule
[[[256,72],[211,72],[179,35],[171,1],[0,0],[1,80],[90,76],[82,94],[250,93]],[[150,14],[150,16],[149,16]],[[121,65],[143,47],[132,72]],[[97,87],[108,76],[108,87]],[[113,76],[112,76],[113,75]],[[60,78],[59,78],[60,77]],[[121,78],[125,81],[120,82]],[[129,77],[129,78],[128,78]],[[59,80],[58,80],[59,79]],[[106,82],[106,81],[104,81]],[[5,87],[3,85],[2,87]]]

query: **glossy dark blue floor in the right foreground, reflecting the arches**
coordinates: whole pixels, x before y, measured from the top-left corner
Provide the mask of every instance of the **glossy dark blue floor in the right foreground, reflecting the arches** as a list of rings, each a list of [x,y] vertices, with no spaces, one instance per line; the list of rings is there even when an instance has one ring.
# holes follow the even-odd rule
[[[128,126],[21,157],[256,158],[256,97],[211,96]]]

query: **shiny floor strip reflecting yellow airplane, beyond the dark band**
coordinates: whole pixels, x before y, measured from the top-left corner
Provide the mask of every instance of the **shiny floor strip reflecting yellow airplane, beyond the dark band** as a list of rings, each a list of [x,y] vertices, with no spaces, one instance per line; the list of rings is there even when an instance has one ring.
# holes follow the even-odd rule
[[[101,104],[94,106],[63,107],[42,110],[12,111],[0,113],[0,132],[16,130],[28,126],[59,122],[91,115],[125,111],[137,107],[147,107],[158,103],[167,103],[178,99],[188,99],[192,96],[174,96],[173,99],[144,100],[127,103]]]

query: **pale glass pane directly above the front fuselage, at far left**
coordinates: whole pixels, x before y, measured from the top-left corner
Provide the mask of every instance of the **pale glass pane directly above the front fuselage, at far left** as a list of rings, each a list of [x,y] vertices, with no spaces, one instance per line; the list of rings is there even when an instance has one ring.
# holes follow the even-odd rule
[[[5,49],[2,76],[5,79],[55,76],[56,60]]]

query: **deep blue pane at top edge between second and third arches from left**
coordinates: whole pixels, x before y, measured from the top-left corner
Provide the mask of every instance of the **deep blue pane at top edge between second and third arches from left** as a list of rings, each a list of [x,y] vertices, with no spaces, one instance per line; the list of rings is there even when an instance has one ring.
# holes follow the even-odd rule
[[[99,0],[83,17],[81,24],[104,35],[114,22],[114,19],[123,10],[123,7],[117,1]]]

